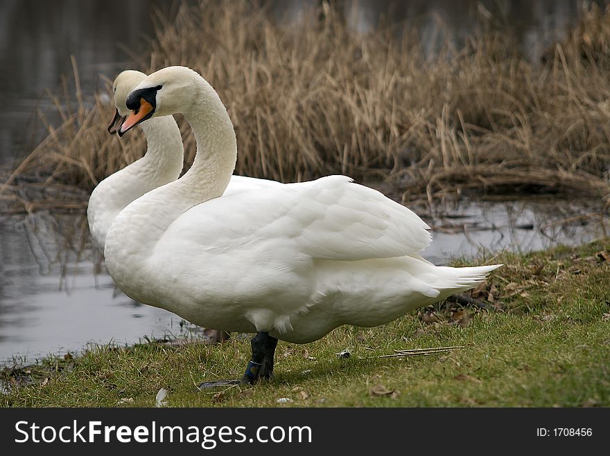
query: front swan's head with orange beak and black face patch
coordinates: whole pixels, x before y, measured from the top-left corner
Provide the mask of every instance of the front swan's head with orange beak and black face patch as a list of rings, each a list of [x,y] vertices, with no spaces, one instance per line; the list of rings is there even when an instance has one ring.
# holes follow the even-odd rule
[[[202,82],[209,86],[199,73],[186,66],[168,66],[151,73],[128,95],[125,104],[132,112],[119,127],[119,136],[151,117],[171,116],[188,109]]]

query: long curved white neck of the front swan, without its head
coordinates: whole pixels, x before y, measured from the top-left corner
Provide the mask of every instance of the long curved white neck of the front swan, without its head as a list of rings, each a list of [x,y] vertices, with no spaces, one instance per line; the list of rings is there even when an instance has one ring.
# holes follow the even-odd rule
[[[237,159],[233,124],[207,82],[200,79],[193,85],[198,90],[182,113],[197,141],[195,160],[182,178],[144,194],[116,217],[105,246],[106,264],[115,281],[121,268],[153,254],[175,219],[199,203],[222,196],[231,180]]]

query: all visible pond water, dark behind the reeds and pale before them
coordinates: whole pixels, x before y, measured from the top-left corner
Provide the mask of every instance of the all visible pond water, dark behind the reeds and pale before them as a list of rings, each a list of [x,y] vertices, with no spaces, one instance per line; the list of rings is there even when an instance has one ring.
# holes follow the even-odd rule
[[[311,3],[276,1],[273,14],[294,20]],[[381,15],[392,20],[415,17],[426,44],[434,35],[432,13],[449,25],[444,33],[463,37],[475,25],[479,4],[442,0],[391,3],[347,1],[346,20],[354,29],[366,31]],[[35,144],[40,134],[32,126],[35,110],[49,109],[44,91],[58,93],[62,76],[67,75],[73,84],[71,55],[78,66],[82,93],[89,98],[103,88],[105,78],[111,80],[132,66],[119,44],[146,55],[153,34],[150,8],[169,11],[173,4],[161,0],[0,0],[0,163],[28,152]],[[498,17],[514,28],[523,51],[532,59],[557,37],[556,30],[565,30],[580,12],[580,1],[568,0],[480,4],[490,11],[500,6],[503,15]],[[559,208],[550,203],[471,203],[444,212],[443,217],[424,217],[435,227],[433,244],[424,255],[437,264],[446,264],[451,257],[476,255],[480,249],[532,250],[557,242],[579,244],[603,234],[595,216],[553,224],[582,214],[578,202]],[[142,306],[116,291],[99,255],[90,250],[87,236],[81,216],[0,217],[0,364],[11,363],[14,357],[28,363],[49,353],[78,352],[89,342],[134,343],[142,336],[192,330],[173,314]]]

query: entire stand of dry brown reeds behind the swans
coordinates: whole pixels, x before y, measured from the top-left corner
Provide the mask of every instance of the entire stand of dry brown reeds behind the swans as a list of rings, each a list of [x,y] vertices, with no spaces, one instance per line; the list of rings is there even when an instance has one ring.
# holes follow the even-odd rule
[[[404,201],[462,190],[610,196],[609,11],[584,10],[534,63],[489,22],[426,58],[413,24],[360,35],[330,8],[282,24],[252,3],[203,2],[156,19],[136,66],[181,64],[209,80],[236,127],[238,174],[389,178]],[[109,136],[110,107],[96,96],[85,109],[85,96],[72,111],[58,101],[62,125],[5,190],[35,174],[88,191],[143,151],[140,134]],[[182,127],[189,163],[195,145]]]

